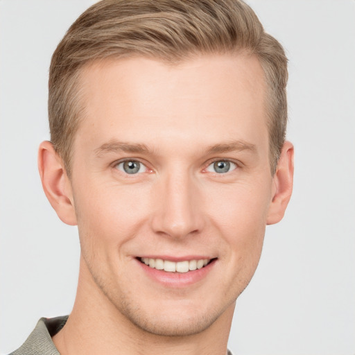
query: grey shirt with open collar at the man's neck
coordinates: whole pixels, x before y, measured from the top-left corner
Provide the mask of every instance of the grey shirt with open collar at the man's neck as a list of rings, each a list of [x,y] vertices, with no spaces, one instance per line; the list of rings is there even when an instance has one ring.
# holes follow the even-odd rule
[[[51,337],[64,327],[67,319],[68,315],[41,318],[24,344],[9,355],[60,355]],[[227,355],[232,355],[232,352],[228,350]]]

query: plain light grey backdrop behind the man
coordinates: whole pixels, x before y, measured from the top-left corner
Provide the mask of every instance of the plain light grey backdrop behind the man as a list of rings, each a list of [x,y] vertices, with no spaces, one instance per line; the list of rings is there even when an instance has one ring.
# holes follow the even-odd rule
[[[93,2],[0,1],[1,354],[41,316],[69,313],[76,293],[76,227],[51,209],[36,159],[49,138],[51,53]],[[239,355],[354,355],[355,1],[249,3],[290,58],[295,188],[237,302],[230,347]]]

